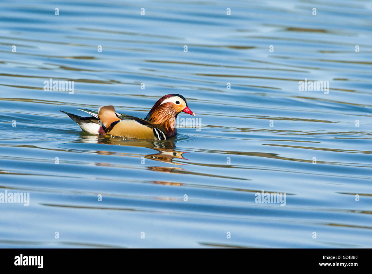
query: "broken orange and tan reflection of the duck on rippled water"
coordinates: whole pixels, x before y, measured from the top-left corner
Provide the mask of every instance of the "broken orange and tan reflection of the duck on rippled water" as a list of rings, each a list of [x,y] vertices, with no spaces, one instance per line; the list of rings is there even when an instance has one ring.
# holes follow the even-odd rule
[[[137,157],[144,157],[145,159],[151,159],[163,163],[169,163],[174,165],[183,165],[182,163],[176,163],[173,159],[184,159],[183,154],[186,152],[176,151],[176,145],[173,141],[147,141],[147,140],[137,140],[137,139],[125,139],[118,137],[102,136],[102,135],[82,135],[80,136],[79,142],[82,143],[91,143],[91,144],[108,144],[108,145],[124,145],[128,147],[143,147],[151,148],[156,152],[152,154],[128,154]],[[102,151],[96,150],[97,154],[106,154],[106,155],[117,155],[118,152],[113,151]],[[150,170],[156,170],[161,172],[174,172],[174,169],[181,168],[172,168],[172,167],[148,167]]]

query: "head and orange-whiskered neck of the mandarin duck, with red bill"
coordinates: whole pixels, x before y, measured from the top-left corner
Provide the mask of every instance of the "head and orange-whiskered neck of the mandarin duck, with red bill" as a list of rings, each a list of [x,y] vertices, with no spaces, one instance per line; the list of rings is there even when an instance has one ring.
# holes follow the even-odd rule
[[[177,133],[175,119],[181,112],[195,116],[187,106],[185,97],[179,94],[167,94],[154,104],[145,120],[164,127],[168,136],[174,136]]]

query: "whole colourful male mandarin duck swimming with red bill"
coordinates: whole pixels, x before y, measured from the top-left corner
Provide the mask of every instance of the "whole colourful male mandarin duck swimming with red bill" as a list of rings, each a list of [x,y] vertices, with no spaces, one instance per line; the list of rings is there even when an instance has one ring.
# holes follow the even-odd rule
[[[100,107],[98,111],[77,108],[91,114],[81,117],[66,113],[83,131],[94,135],[122,136],[127,138],[166,140],[177,134],[176,117],[185,112],[195,116],[187,106],[185,97],[168,94],[161,97],[144,119],[119,114],[113,105]]]

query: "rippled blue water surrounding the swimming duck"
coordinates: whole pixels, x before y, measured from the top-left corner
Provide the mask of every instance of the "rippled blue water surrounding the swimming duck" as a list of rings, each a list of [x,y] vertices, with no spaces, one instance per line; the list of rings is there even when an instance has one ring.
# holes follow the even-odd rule
[[[371,1],[0,11],[0,192],[30,193],[29,206],[0,204],[0,247],[372,247]],[[44,91],[50,78],[74,93]],[[329,93],[299,91],[305,79]],[[145,117],[170,93],[200,131],[89,136],[60,112],[113,104]],[[285,206],[256,203],[262,191],[285,192]]]

